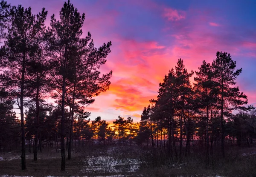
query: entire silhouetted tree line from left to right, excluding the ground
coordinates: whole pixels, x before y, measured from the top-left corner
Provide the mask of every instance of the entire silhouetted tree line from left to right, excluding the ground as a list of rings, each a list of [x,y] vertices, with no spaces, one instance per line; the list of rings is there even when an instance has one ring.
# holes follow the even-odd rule
[[[0,1],[0,151],[21,145],[22,170],[26,148],[32,149],[34,161],[44,146],[56,152],[60,148],[64,171],[65,150],[70,160],[73,147],[90,143],[151,145],[179,160],[198,144],[206,148],[207,165],[212,159],[213,166],[213,146],[220,146],[224,157],[227,143],[255,142],[256,112],[253,106],[245,107],[247,96],[235,82],[242,70],[236,70],[226,52],[217,52],[212,63],[203,61],[195,73],[179,59],[139,123],[121,116],[113,126],[101,117],[90,122],[84,107],[110,86],[112,71],[101,74],[100,66],[107,61],[111,42],[96,48],[89,32],[82,37],[85,15],[70,0],[59,20],[51,16],[49,27],[46,17],[44,8],[32,14],[30,7]],[[50,98],[55,104],[47,102]]]

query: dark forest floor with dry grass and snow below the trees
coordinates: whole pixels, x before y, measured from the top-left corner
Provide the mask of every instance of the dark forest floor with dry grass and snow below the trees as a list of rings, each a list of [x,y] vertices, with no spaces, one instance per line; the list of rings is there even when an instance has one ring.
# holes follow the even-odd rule
[[[204,152],[193,151],[182,162],[166,160],[158,150],[139,147],[85,148],[74,150],[60,171],[61,157],[55,149],[38,152],[38,161],[27,152],[27,170],[20,170],[19,151],[0,154],[0,177],[255,177],[256,147],[230,148],[222,159],[215,150],[214,168],[206,166]],[[212,161],[210,160],[212,164]]]

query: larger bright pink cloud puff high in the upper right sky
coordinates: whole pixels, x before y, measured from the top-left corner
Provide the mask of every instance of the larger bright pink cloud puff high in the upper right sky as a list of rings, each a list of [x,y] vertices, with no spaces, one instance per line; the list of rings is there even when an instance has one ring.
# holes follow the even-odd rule
[[[180,11],[172,8],[165,8],[163,17],[166,17],[169,21],[179,21],[185,19],[185,11]]]

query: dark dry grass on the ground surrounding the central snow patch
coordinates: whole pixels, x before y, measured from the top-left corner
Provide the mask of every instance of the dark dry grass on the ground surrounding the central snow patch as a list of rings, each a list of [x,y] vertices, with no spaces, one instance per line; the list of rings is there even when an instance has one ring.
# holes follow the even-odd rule
[[[221,158],[218,149],[214,150],[214,168],[206,166],[205,151],[193,149],[189,157],[177,163],[177,159],[168,158],[165,151],[160,149],[144,149],[139,147],[87,147],[73,152],[73,159],[66,160],[66,171],[60,171],[60,154],[54,151],[38,153],[38,162],[32,160],[28,154],[27,170],[21,171],[20,158],[0,161],[0,175],[18,176],[108,176],[113,174],[83,172],[84,159],[90,156],[115,156],[120,158],[140,158],[140,169],[134,173],[122,173],[131,177],[256,177],[256,147],[230,148],[226,157]],[[17,153],[17,152],[16,152]],[[12,153],[17,157],[16,153]],[[245,155],[242,155],[245,154]],[[7,156],[11,156],[7,154]]]

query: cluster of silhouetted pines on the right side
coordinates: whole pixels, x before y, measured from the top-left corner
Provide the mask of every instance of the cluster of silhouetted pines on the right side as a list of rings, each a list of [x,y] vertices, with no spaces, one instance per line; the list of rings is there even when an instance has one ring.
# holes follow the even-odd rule
[[[209,166],[209,154],[213,165],[213,144],[220,144],[225,157],[225,142],[255,142],[256,114],[253,106],[246,107],[247,96],[235,86],[242,69],[236,70],[230,54],[218,51],[212,64],[203,61],[198,70],[192,86],[194,72],[189,73],[183,60],[178,60],[175,69],[169,70],[159,84],[157,100],[150,100],[151,105],[143,109],[139,135],[146,138],[147,145],[151,138],[152,147],[158,146],[156,140],[167,136],[170,155],[180,160],[190,154],[191,141],[194,145],[197,140],[206,147]],[[234,110],[239,114],[233,114]]]

